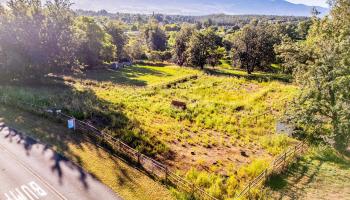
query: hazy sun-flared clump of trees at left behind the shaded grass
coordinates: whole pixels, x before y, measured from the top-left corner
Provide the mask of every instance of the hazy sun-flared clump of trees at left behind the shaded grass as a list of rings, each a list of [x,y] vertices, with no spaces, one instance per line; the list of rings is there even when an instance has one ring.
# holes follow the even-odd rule
[[[77,16],[69,0],[10,0],[0,7],[0,67],[14,78],[121,59],[119,22]]]

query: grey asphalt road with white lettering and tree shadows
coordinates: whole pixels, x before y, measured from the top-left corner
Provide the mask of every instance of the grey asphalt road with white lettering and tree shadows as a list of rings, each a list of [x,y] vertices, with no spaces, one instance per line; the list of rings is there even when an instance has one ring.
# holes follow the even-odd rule
[[[0,200],[119,200],[47,146],[0,124]]]

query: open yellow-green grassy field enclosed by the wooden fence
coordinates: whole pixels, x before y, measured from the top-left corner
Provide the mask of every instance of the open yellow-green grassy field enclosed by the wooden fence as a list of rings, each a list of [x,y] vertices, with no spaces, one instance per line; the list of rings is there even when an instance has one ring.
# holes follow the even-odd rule
[[[157,87],[194,74],[197,79]],[[41,87],[3,86],[0,97],[63,108],[219,198],[234,195],[295,143],[276,133],[277,120],[298,93],[282,82],[286,77],[143,65],[59,77]],[[173,100],[187,109],[174,108]]]

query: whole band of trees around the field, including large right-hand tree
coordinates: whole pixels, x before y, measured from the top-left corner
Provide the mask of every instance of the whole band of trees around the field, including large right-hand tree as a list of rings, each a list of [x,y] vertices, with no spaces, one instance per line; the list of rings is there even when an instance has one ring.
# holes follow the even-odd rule
[[[81,16],[69,0],[42,4],[10,0],[0,6],[0,69],[12,79],[107,65],[114,61],[168,61],[205,69],[222,60],[251,74],[255,70],[292,74],[302,87],[290,120],[299,136],[333,141],[345,149],[350,140],[350,3],[332,0],[322,19],[296,22],[250,20],[227,29],[205,23],[126,24],[106,17]]]

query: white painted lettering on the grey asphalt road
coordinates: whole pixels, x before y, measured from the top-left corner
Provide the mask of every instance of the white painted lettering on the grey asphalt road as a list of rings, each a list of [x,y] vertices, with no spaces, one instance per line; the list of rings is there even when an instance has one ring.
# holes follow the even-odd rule
[[[47,196],[47,192],[35,181],[24,184],[4,194],[6,200],[35,200]]]

